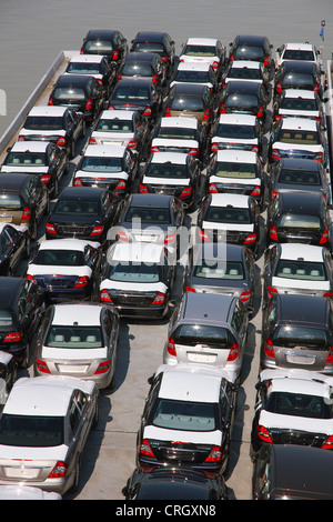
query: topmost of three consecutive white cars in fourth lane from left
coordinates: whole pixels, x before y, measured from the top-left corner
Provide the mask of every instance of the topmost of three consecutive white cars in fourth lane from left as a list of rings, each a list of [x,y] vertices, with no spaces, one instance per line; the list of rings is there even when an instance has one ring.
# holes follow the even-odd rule
[[[211,130],[211,152],[242,149],[262,152],[262,128],[252,114],[220,114]]]

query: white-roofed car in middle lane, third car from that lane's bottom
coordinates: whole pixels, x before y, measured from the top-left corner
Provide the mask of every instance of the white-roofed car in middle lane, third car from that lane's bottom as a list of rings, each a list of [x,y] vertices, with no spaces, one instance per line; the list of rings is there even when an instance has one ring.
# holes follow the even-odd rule
[[[171,194],[179,198],[184,209],[195,208],[200,188],[199,161],[182,152],[153,152],[140,179],[139,191],[143,194]]]

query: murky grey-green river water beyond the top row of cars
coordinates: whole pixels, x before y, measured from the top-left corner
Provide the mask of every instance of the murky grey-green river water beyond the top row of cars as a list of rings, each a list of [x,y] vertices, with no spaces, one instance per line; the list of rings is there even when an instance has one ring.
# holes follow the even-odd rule
[[[321,21],[326,21],[324,42]],[[332,0],[0,0],[0,137],[62,50],[79,50],[89,29],[165,30],[178,52],[189,37],[229,42],[238,33],[266,34],[333,50]]]

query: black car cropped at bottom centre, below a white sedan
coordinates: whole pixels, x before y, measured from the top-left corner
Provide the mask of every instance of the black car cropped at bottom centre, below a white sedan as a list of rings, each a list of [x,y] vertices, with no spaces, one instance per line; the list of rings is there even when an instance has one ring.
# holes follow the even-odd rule
[[[125,500],[226,500],[223,476],[173,466],[135,468],[122,489]]]

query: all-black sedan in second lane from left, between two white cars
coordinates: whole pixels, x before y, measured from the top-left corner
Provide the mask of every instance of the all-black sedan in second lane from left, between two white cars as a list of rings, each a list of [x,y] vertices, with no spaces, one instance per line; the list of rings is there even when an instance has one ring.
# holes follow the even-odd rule
[[[48,217],[46,237],[87,239],[104,245],[118,205],[118,197],[108,189],[67,187]]]

